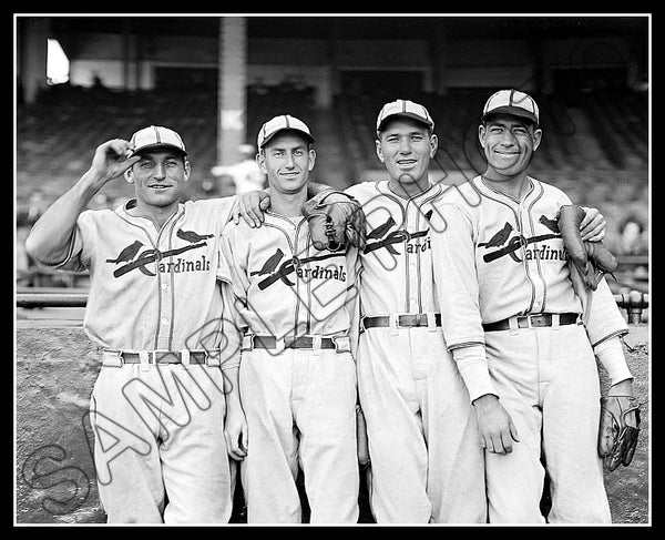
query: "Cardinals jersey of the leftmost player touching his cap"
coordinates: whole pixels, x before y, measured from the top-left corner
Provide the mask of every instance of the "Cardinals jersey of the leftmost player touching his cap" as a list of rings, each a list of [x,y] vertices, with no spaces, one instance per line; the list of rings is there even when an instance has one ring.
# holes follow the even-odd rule
[[[182,203],[160,230],[127,213],[134,200],[115,211],[82,212],[57,267],[90,269],[83,322],[90,338],[124,350],[219,347],[219,234],[234,201]]]

